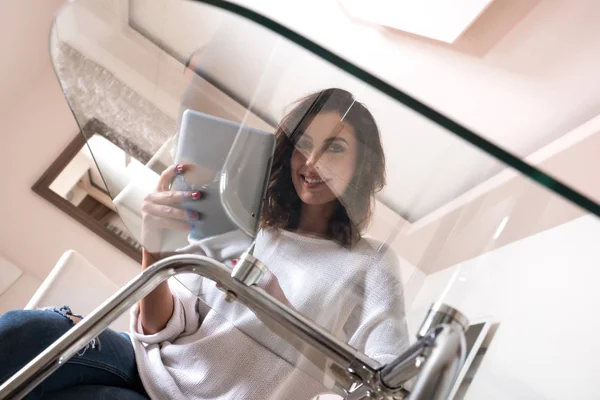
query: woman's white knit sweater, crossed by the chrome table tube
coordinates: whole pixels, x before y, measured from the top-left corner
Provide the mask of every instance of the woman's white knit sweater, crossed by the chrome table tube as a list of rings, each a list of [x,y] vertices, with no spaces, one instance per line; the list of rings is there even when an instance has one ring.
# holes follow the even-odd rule
[[[197,246],[230,260],[248,245],[226,239]],[[386,363],[408,337],[397,259],[375,245],[361,240],[350,251],[328,240],[263,231],[254,254],[296,310]],[[138,370],[152,399],[308,400],[331,392],[320,369],[245,306],[226,303],[214,282],[188,275],[169,286],[175,309],[161,332],[143,334],[139,309],[132,310]]]

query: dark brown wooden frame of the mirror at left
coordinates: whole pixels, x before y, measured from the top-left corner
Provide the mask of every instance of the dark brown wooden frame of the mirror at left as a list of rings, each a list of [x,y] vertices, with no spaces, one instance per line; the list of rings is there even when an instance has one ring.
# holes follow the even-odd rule
[[[86,214],[83,210],[74,206],[68,200],[61,197],[50,189],[50,185],[58,177],[58,175],[64,170],[69,162],[79,153],[79,151],[86,146],[85,137],[90,137],[92,134],[97,133],[106,137],[111,142],[115,143],[115,138],[119,138],[118,141],[124,140],[122,137],[115,135],[114,132],[108,128],[104,123],[99,120],[90,120],[82,129],[82,132],[78,133],[77,136],[69,143],[69,145],[62,151],[58,158],[50,165],[50,167],[44,172],[44,174],[35,182],[31,189],[37,193],[40,197],[44,198],[65,214],[75,219],[80,224],[87,227],[89,230],[106,240],[108,243],[115,246],[117,249],[122,251],[124,254],[131,257],[133,260],[141,263],[142,254],[134,247],[129,245],[127,242],[118,237],[115,233],[107,229],[102,223],[96,221],[93,217]],[[116,145],[124,143],[115,143]],[[132,146],[131,143],[127,143],[128,149],[133,149],[135,154],[132,156],[138,158],[142,162],[146,162],[150,159],[150,156],[137,147]]]

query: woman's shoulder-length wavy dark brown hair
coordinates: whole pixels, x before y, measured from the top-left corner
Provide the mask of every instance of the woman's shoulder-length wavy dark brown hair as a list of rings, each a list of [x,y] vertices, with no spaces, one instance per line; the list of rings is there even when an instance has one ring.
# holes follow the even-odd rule
[[[352,247],[368,225],[373,195],[385,186],[385,157],[373,115],[343,89],[326,89],[299,100],[283,118],[276,135],[271,176],[263,206],[261,228],[295,230],[302,201],[292,183],[291,158],[295,144],[319,113],[337,112],[352,126],[357,139],[357,162],[352,181],[337,201],[327,237]]]

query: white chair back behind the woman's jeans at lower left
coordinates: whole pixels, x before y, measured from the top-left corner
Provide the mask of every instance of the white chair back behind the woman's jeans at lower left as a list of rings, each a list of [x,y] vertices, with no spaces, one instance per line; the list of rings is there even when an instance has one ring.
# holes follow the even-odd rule
[[[74,314],[85,316],[118,289],[117,284],[83,256],[68,250],[58,260],[25,309],[68,305]],[[129,313],[120,315],[110,328],[129,331]]]

